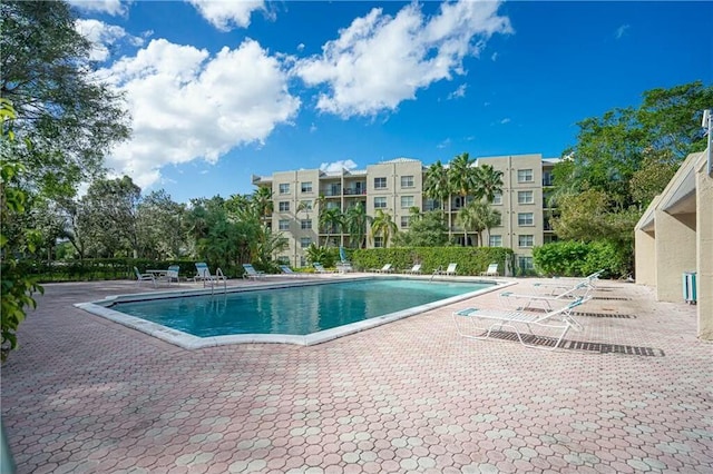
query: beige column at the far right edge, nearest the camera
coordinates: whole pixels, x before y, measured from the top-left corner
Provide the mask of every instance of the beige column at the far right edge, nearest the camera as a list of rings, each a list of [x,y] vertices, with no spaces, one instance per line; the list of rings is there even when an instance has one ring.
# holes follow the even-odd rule
[[[696,172],[697,228],[697,312],[701,339],[713,340],[713,177],[705,170],[706,164]]]

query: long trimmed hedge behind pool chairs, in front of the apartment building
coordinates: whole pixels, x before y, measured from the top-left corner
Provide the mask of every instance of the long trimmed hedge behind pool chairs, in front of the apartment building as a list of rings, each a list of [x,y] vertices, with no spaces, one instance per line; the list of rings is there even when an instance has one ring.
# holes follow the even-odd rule
[[[498,263],[498,271],[505,275],[506,260],[514,268],[514,253],[504,247],[390,247],[354,250],[352,266],[360,270],[381,268],[391,264],[397,270],[410,269],[421,264],[421,271],[433,273],[438,267],[458,264],[458,275],[480,275],[488,265]]]

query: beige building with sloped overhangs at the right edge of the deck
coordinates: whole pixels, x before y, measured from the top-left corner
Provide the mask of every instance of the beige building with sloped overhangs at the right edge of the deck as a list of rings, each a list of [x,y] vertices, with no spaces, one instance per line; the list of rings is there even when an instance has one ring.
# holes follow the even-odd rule
[[[688,155],[648,206],[635,227],[635,255],[636,283],[655,287],[661,302],[695,300],[697,336],[713,340],[713,176],[709,154]]]

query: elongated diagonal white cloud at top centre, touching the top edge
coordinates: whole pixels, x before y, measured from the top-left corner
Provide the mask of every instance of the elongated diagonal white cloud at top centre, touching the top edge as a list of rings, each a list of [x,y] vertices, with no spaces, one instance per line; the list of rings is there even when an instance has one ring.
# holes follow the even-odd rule
[[[309,86],[326,86],[321,111],[348,118],[394,110],[419,89],[465,75],[463,58],[478,56],[492,34],[512,32],[508,18],[497,14],[499,4],[445,2],[432,18],[416,2],[395,17],[373,9],[326,42],[322,55],[297,60],[293,73]]]

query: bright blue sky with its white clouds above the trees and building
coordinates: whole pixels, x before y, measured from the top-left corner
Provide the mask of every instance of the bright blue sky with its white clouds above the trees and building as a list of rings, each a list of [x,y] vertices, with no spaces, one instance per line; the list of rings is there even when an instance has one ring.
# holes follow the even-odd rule
[[[70,3],[133,116],[107,166],[177,201],[280,170],[559,157],[579,120],[713,81],[703,1]]]

